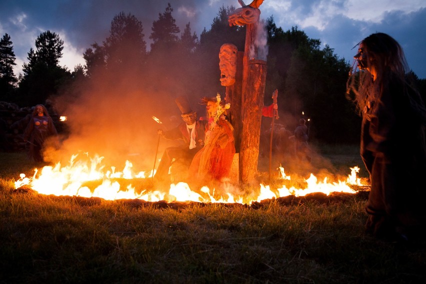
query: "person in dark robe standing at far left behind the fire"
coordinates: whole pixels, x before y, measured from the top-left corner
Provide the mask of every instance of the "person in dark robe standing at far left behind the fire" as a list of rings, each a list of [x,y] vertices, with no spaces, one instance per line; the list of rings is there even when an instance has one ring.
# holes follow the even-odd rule
[[[23,132],[23,139],[28,146],[28,156],[36,162],[42,162],[43,144],[50,136],[57,137],[57,131],[47,109],[37,104]]]

